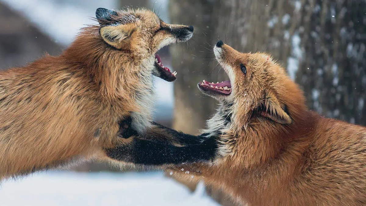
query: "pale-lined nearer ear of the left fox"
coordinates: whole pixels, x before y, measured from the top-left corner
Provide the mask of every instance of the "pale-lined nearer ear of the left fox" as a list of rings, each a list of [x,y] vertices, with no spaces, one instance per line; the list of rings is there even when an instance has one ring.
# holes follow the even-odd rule
[[[136,27],[133,24],[111,25],[100,28],[99,33],[103,40],[117,49],[130,47],[130,37]]]

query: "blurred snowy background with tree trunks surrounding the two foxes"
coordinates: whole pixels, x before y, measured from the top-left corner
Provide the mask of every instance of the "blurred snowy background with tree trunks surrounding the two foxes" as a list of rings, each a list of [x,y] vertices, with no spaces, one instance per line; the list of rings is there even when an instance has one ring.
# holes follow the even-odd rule
[[[228,80],[213,58],[223,40],[243,52],[266,51],[325,116],[366,125],[364,0],[0,0],[0,68],[60,54],[98,7],[154,9],[166,22],[193,25],[188,43],[162,49],[174,83],[156,79],[161,124],[198,134],[216,102],[197,82]],[[169,62],[169,63],[168,63]],[[219,188],[169,179],[159,171],[119,171],[88,163],[74,172],[37,173],[0,186],[1,205],[239,205]]]

